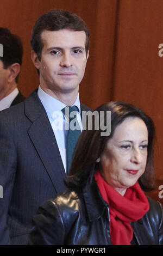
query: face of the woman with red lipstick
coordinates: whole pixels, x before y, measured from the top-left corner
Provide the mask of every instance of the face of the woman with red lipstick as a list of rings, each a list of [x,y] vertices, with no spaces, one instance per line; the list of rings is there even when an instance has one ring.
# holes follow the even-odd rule
[[[137,117],[126,118],[106,144],[101,155],[102,176],[122,196],[145,172],[147,145],[147,126]]]

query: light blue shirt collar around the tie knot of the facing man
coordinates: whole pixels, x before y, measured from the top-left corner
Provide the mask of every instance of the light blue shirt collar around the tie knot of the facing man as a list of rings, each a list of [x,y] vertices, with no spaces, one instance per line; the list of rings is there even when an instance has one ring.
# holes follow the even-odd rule
[[[66,105],[63,102],[45,93],[44,90],[42,90],[41,86],[39,86],[37,94],[42,102],[43,107],[47,112],[48,117],[53,117],[54,111],[61,111],[62,108],[66,107]],[[78,107],[80,113],[79,93],[77,95],[76,101],[73,103],[72,106],[74,105]]]

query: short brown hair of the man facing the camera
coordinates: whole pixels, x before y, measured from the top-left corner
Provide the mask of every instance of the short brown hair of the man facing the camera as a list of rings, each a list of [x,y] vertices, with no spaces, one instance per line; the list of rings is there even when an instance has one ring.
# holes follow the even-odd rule
[[[32,50],[35,51],[39,60],[41,60],[41,52],[43,42],[41,40],[41,33],[47,31],[59,31],[60,29],[71,29],[72,31],[84,31],[86,34],[85,51],[86,55],[89,50],[89,29],[85,22],[76,14],[70,13],[66,10],[50,10],[43,14],[35,22],[32,31],[32,38],[30,44]]]

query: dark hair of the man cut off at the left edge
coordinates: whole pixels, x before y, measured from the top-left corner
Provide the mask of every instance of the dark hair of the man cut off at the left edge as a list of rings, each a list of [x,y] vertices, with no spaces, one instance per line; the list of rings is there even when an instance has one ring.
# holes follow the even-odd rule
[[[11,34],[7,28],[0,27],[0,44],[3,45],[3,57],[0,57],[0,60],[4,69],[14,63],[22,64],[23,46],[17,35]],[[18,75],[15,80],[17,83]]]

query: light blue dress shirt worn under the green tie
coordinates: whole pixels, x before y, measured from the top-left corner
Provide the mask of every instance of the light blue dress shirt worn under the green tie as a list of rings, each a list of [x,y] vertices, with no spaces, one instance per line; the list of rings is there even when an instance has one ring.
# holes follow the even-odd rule
[[[66,118],[64,117],[64,114],[61,111],[61,109],[65,108],[66,105],[61,101],[45,93],[42,90],[41,86],[39,86],[37,94],[48,115],[49,121],[51,123],[52,129],[55,135],[55,139],[58,144],[61,159],[64,164],[64,168],[66,170],[66,135],[67,135],[66,127],[68,127],[68,121],[66,120]],[[82,130],[79,94],[77,95],[77,99],[72,106],[74,105],[77,106],[79,109],[79,113],[77,112],[77,120],[78,120],[80,129]]]

